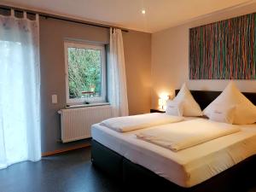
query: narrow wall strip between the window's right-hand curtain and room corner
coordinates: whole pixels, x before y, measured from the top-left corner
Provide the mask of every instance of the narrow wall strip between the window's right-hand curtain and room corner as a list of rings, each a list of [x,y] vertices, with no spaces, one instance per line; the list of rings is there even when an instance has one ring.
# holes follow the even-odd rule
[[[148,113],[151,104],[151,34],[124,32],[129,113]]]

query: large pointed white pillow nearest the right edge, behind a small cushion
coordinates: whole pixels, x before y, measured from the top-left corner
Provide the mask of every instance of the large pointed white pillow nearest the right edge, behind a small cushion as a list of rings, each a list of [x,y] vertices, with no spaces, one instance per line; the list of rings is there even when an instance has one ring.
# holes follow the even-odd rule
[[[224,91],[204,109],[203,113],[210,118],[212,110],[214,110],[216,105],[222,106],[225,110],[230,108],[230,106],[236,105],[234,124],[246,125],[256,122],[256,107],[246,96],[241,94],[233,82],[228,84]]]

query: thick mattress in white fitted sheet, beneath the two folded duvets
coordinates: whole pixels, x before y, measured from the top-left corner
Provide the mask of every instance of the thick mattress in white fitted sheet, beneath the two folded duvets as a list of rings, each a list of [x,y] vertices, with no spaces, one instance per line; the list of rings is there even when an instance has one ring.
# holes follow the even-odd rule
[[[136,133],[150,128],[121,133],[96,124],[91,134],[98,143],[133,163],[189,188],[256,154],[256,124],[240,128],[239,132],[177,152],[137,139]]]

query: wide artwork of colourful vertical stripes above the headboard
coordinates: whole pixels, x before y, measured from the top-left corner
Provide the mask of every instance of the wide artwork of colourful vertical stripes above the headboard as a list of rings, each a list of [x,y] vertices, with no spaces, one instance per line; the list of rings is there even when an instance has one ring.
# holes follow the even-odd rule
[[[256,14],[191,28],[189,79],[256,79]]]

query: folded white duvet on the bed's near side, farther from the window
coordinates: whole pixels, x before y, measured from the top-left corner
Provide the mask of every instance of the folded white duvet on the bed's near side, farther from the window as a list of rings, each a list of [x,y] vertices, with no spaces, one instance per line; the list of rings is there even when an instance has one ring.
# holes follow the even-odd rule
[[[177,124],[155,126],[140,131],[136,136],[149,143],[178,151],[237,131],[240,131],[238,125],[218,123],[208,119],[193,119]]]

